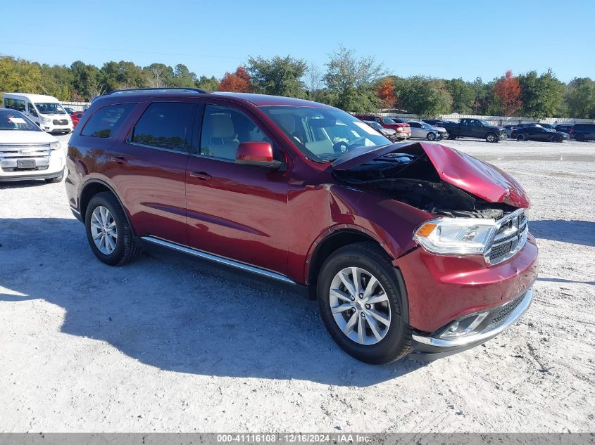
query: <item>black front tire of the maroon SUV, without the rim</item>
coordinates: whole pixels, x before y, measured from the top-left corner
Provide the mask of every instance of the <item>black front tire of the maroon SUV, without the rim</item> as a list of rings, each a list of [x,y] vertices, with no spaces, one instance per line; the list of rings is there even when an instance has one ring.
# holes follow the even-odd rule
[[[334,320],[330,307],[330,286],[334,276],[347,267],[360,267],[379,281],[389,299],[392,318],[386,335],[375,344],[359,344],[347,337]],[[380,365],[401,359],[411,352],[411,327],[403,322],[401,292],[389,257],[375,243],[354,243],[328,257],[318,275],[320,316],[335,342],[347,354],[365,363]]]

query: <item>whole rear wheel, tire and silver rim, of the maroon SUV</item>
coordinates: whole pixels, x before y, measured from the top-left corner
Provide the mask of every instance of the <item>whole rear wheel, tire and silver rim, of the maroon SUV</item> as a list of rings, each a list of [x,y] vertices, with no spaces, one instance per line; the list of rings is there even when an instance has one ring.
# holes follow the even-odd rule
[[[84,216],[87,240],[95,256],[110,266],[126,264],[137,257],[132,229],[120,202],[112,193],[97,193]]]

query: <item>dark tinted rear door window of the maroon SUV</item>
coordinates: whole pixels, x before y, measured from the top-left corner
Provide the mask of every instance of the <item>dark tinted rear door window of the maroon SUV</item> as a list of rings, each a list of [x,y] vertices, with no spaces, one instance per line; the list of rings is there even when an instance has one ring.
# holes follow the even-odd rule
[[[132,142],[189,152],[193,109],[192,103],[151,103],[134,126]]]

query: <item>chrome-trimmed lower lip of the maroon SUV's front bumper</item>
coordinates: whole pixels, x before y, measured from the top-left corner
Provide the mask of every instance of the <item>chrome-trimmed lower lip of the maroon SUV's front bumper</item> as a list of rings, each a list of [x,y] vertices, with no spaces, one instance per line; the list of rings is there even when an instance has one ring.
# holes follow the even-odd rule
[[[515,324],[529,309],[532,301],[533,289],[529,288],[511,302],[491,309],[489,315],[483,319],[475,332],[461,337],[443,339],[439,335],[434,337],[433,335],[414,333],[411,344],[413,353],[409,357],[413,360],[441,359],[487,342]]]

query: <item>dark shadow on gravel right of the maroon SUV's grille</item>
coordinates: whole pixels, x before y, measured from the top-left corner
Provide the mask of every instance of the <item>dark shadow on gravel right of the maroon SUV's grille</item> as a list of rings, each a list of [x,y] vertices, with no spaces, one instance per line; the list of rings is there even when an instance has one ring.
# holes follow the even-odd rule
[[[536,238],[595,246],[594,221],[539,219],[531,220],[529,229]]]

